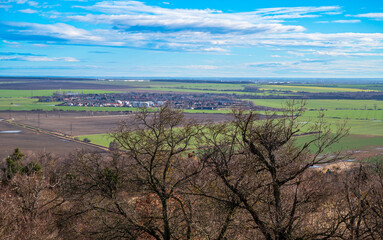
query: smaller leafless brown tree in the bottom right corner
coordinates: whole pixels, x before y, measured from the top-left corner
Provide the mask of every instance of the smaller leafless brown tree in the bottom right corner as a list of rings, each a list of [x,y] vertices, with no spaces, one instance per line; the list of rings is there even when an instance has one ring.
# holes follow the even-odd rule
[[[382,163],[360,164],[342,174],[334,194],[342,239],[382,239]]]

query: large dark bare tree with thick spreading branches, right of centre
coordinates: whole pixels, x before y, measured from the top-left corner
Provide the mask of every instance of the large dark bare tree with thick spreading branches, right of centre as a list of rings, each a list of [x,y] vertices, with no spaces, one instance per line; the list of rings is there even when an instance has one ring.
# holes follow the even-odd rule
[[[231,124],[210,126],[204,134],[212,147],[201,159],[249,216],[249,228],[264,239],[328,236],[326,224],[310,232],[305,228],[322,194],[320,184],[309,184],[305,172],[338,160],[325,151],[348,130],[344,123],[332,132],[323,116],[312,124],[300,123],[303,109],[304,104],[292,101],[281,116],[263,120],[255,112],[234,111]],[[313,134],[296,144],[295,137],[306,132]]]

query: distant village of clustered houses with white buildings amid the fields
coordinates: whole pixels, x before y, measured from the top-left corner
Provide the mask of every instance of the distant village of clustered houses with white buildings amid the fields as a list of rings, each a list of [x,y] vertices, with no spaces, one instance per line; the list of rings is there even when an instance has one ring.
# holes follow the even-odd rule
[[[38,97],[40,102],[61,102],[58,106],[88,107],[161,107],[164,104],[177,109],[213,110],[250,105],[230,94],[211,93],[105,93],[105,94],[54,94]]]

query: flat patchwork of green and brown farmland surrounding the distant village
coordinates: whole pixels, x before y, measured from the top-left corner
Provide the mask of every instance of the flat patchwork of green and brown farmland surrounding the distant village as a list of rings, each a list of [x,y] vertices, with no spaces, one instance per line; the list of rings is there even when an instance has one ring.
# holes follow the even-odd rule
[[[58,91],[65,93],[84,94],[110,94],[129,92],[153,93],[214,93],[227,94],[231,97],[250,101],[255,107],[283,108],[287,99],[302,96],[305,93],[313,94],[369,94],[380,96],[382,84],[267,84],[248,82],[182,82],[182,81],[96,81],[96,80],[30,80],[0,79],[0,118],[14,119],[14,121],[49,131],[58,131],[62,134],[78,137],[80,140],[88,138],[92,143],[108,146],[111,141],[108,133],[115,129],[122,120],[133,119],[132,113],[137,108],[132,107],[84,107],[84,106],[58,106],[61,102],[39,102],[36,96],[52,96]],[[27,83],[27,84],[26,84]],[[66,85],[65,85],[65,84]],[[13,84],[13,85],[12,85]],[[68,86],[57,88],[57,86]],[[12,88],[13,86],[13,88]],[[69,87],[70,86],[70,87]],[[302,93],[304,92],[304,93]],[[346,94],[346,95],[344,95]],[[256,97],[254,99],[253,97]],[[309,95],[310,96],[310,95]],[[317,95],[314,95],[317,96]],[[334,95],[332,95],[333,97]],[[367,96],[367,95],[366,95]],[[273,99],[274,98],[274,99]],[[370,99],[307,99],[305,113],[300,121],[306,125],[314,124],[318,114],[324,114],[325,120],[335,128],[339,122],[346,121],[350,127],[350,135],[336,144],[332,151],[351,149],[375,149],[383,145],[383,101]],[[155,108],[152,111],[156,111]],[[199,122],[210,120],[222,122],[230,120],[229,108],[214,110],[187,109],[187,118],[197,119]],[[260,113],[264,113],[259,111]],[[269,112],[270,113],[270,112]],[[267,114],[269,114],[267,113]],[[5,127],[2,126],[6,130]],[[3,129],[1,129],[3,130]],[[27,131],[25,132],[27,133]],[[40,134],[43,135],[43,134]],[[5,135],[1,135],[4,139]],[[7,135],[11,145],[2,145],[6,148],[24,146],[19,141],[20,136]],[[298,137],[297,142],[307,140],[309,137]],[[33,140],[39,141],[39,140]],[[63,141],[58,140],[61,146]],[[17,144],[19,143],[19,145]],[[69,148],[79,146],[72,142]],[[81,144],[80,144],[81,145]],[[25,145],[26,149],[28,144]],[[48,145],[47,145],[48,146]],[[64,145],[63,145],[64,146]],[[3,147],[3,148],[4,148]],[[37,146],[35,146],[37,147]],[[55,148],[46,147],[54,150]],[[67,149],[63,147],[63,149]],[[6,149],[0,149],[5,151]],[[62,151],[67,152],[67,150]]]

